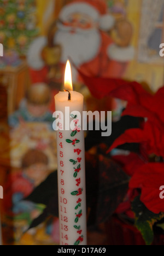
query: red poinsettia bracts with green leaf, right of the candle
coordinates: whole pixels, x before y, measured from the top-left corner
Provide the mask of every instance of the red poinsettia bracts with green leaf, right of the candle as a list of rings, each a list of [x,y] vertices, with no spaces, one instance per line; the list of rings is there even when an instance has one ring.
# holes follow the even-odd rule
[[[137,228],[151,245],[155,223],[160,221],[161,228],[164,223],[164,200],[160,198],[160,187],[164,185],[164,87],[151,94],[137,82],[86,77],[79,73],[93,96],[109,95],[125,100],[127,107],[122,117],[140,118],[139,127],[125,130],[109,145],[107,153],[127,143],[139,146],[137,152],[114,157],[131,176],[126,200],[116,212],[130,214],[131,209]]]

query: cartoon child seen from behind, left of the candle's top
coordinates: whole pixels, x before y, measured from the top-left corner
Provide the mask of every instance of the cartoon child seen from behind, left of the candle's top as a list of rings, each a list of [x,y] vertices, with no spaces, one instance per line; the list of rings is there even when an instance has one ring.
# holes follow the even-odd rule
[[[27,91],[26,99],[21,102],[20,108],[9,117],[9,125],[15,127],[21,121],[52,122],[52,113],[49,111],[50,89],[44,83],[33,84]]]

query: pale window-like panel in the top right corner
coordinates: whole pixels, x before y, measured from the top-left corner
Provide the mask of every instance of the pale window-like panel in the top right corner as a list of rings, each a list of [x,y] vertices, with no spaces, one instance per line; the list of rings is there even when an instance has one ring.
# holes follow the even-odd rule
[[[160,44],[164,42],[163,1],[142,1],[138,61],[163,65]],[[145,26],[147,24],[147,26]]]

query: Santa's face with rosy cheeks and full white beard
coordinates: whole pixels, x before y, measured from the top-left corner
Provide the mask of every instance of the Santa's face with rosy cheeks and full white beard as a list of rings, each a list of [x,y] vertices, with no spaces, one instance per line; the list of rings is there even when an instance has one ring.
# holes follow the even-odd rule
[[[80,66],[97,56],[101,36],[97,23],[89,15],[73,13],[57,26],[54,41],[62,46],[61,62],[66,63],[71,57]]]

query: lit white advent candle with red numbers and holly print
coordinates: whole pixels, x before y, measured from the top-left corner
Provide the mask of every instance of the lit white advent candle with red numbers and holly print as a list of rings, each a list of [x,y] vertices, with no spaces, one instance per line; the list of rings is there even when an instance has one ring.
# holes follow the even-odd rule
[[[65,91],[55,96],[55,113],[61,113],[56,114],[60,245],[87,244],[83,107],[83,95],[73,91],[68,61]]]

